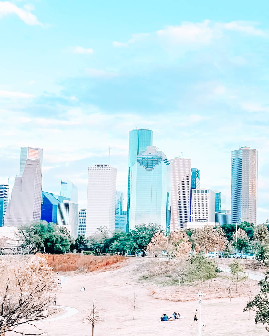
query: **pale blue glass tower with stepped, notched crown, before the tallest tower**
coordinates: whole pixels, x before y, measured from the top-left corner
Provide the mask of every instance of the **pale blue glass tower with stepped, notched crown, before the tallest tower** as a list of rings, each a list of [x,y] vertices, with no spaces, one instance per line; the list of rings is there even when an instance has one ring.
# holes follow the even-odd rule
[[[129,228],[157,223],[166,228],[167,170],[169,161],[157,147],[147,146],[132,166]]]

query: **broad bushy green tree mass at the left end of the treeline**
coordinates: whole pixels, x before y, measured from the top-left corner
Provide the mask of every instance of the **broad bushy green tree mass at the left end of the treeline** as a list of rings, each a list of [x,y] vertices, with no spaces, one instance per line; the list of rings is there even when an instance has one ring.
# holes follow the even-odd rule
[[[46,253],[65,253],[70,251],[72,239],[70,233],[63,233],[62,227],[54,223],[48,223],[45,220],[35,221],[31,225],[23,225],[19,228],[19,234],[22,237],[23,245],[33,243],[38,251]]]

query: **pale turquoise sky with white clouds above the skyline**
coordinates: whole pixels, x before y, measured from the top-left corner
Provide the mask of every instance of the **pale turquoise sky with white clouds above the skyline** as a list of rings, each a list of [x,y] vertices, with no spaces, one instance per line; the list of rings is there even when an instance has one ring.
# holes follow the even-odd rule
[[[42,190],[86,205],[88,166],[117,168],[128,132],[191,158],[230,208],[231,151],[258,150],[258,223],[269,218],[268,0],[0,1],[0,182],[43,148]]]

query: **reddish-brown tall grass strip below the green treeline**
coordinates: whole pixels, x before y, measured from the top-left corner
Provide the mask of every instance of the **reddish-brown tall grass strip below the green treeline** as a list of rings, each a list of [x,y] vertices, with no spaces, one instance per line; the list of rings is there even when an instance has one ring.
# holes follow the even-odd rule
[[[120,255],[92,256],[79,254],[49,254],[48,264],[54,271],[68,272],[93,272],[121,262],[125,257]]]

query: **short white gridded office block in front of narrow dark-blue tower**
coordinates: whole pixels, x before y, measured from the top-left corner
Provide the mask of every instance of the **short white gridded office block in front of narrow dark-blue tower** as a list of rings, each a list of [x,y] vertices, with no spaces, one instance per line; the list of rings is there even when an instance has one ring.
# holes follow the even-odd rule
[[[192,222],[215,222],[216,194],[210,189],[193,189]]]

